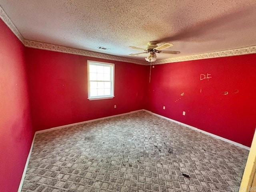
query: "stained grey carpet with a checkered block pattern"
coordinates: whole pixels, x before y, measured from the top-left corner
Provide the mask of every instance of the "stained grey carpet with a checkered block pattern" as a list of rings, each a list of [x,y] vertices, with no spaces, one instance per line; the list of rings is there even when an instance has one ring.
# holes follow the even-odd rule
[[[226,192],[248,153],[137,112],[36,134],[22,192]]]

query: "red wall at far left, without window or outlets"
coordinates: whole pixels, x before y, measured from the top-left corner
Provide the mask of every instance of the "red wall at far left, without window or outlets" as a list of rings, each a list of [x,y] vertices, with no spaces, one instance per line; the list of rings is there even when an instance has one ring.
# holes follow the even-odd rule
[[[24,46],[0,20],[0,191],[17,192],[33,136]]]

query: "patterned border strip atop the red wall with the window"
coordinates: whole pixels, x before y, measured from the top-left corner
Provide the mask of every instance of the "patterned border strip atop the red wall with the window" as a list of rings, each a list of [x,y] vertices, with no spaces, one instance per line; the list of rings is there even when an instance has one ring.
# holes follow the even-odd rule
[[[129,62],[129,63],[140,64],[140,65],[147,65],[147,62],[145,61],[118,57],[114,55],[108,55],[108,54],[86,51],[81,49],[74,49],[74,48],[69,48],[65,46],[53,45],[53,44],[36,42],[31,40],[24,40],[24,45],[30,48],[50,50],[50,51],[56,51],[56,52],[62,52],[62,53],[70,53],[75,55],[83,55],[83,56],[102,58],[102,59],[108,59],[108,60],[114,60],[114,61]]]

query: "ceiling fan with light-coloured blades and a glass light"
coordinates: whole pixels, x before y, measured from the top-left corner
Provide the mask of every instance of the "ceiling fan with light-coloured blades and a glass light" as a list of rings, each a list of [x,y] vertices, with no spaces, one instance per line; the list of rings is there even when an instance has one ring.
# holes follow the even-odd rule
[[[129,55],[137,56],[137,55],[144,54],[144,53],[150,53],[149,56],[145,58],[145,60],[148,62],[154,62],[154,61],[156,61],[156,53],[168,53],[168,54],[179,54],[180,53],[179,51],[162,51],[162,49],[166,49],[168,47],[173,46],[172,43],[164,43],[159,46],[157,44],[158,44],[158,42],[156,42],[156,41],[150,41],[150,42],[148,42],[148,46],[145,49],[139,48],[139,47],[134,47],[134,46],[129,46],[130,48],[144,51],[141,53],[134,53],[134,54],[129,54]]]

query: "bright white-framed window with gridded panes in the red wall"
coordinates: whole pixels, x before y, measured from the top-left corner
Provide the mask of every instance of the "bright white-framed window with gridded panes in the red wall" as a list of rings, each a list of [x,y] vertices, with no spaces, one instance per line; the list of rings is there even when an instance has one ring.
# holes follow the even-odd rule
[[[114,97],[114,64],[88,61],[88,99]]]

